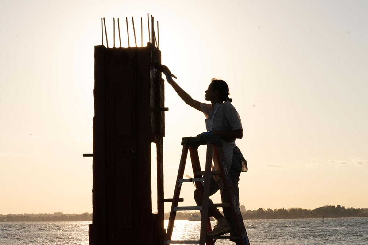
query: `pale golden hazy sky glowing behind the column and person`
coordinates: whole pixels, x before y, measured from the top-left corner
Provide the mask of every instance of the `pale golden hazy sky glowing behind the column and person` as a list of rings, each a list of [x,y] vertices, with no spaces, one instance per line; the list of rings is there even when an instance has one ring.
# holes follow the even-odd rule
[[[229,84],[249,167],[240,204],[368,208],[367,1],[14,0],[0,2],[0,214],[92,212],[92,159],[82,154],[92,153],[100,18],[111,47],[113,17],[143,17],[148,42],[147,13],[159,21],[163,64],[193,98],[204,101],[212,78]],[[165,89],[172,198],[181,137],[205,123]],[[193,190],[183,185],[182,205],[194,205]]]

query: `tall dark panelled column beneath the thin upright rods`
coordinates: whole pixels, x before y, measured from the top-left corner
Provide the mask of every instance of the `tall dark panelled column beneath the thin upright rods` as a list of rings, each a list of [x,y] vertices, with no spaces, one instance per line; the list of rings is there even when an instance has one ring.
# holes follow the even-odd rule
[[[163,244],[164,80],[161,51],[95,46],[93,221],[90,245]],[[151,143],[158,214],[152,214]]]

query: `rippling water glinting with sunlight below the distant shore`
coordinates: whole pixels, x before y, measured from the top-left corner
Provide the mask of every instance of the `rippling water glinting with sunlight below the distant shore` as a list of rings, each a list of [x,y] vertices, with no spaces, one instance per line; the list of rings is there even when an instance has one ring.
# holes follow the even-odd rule
[[[90,223],[1,222],[0,244],[87,245]],[[244,220],[244,224],[251,245],[368,245],[368,218],[365,217]],[[199,227],[200,221],[177,220],[171,239],[198,240]],[[216,244],[234,243],[221,240]]]

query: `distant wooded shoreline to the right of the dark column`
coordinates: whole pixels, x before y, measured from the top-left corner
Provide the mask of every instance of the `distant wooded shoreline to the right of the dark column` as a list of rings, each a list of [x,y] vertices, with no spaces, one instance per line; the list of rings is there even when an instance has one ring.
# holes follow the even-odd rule
[[[192,214],[199,212],[177,212],[177,220],[187,220]],[[338,217],[368,217],[368,208],[336,208],[335,206],[323,206],[314,210],[302,208],[290,209],[263,209],[247,210],[241,212],[243,219],[305,219],[305,218],[338,218]],[[165,213],[165,219],[169,219],[170,212]]]

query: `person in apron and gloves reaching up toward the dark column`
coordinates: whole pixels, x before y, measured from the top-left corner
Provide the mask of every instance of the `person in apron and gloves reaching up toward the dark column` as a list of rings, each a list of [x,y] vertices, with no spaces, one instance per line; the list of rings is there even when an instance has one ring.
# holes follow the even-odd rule
[[[167,68],[166,66],[164,67]],[[180,98],[182,98],[184,102],[191,107],[203,112],[206,116],[205,122],[207,132],[202,134],[218,135],[222,138],[227,169],[230,169],[229,173],[231,175],[231,180],[233,181],[234,190],[237,196],[237,205],[239,207],[238,181],[240,172],[247,172],[247,161],[245,161],[239,148],[235,145],[235,139],[241,139],[243,137],[243,127],[241,126],[238,112],[230,103],[232,100],[229,98],[229,87],[223,80],[212,79],[208,89],[205,91],[205,100],[210,101],[211,104],[201,103],[194,100],[189,94],[181,89],[176,82],[174,82],[169,69],[165,70],[166,71],[163,73],[166,76],[167,82],[174,88]],[[215,159],[214,162],[214,167],[216,167]],[[215,179],[211,176],[209,195],[215,194],[221,188],[222,202],[229,203],[226,188],[223,188],[221,181]],[[197,202],[197,205],[202,205],[202,196],[198,195],[197,189],[194,191],[194,199]],[[209,204],[211,205],[212,203],[211,199],[209,199]],[[208,235],[222,235],[229,232],[231,235],[237,235],[231,209],[223,208],[223,212],[224,216],[217,208],[209,208],[208,214],[217,220],[217,226],[212,231],[209,231],[207,233]]]

